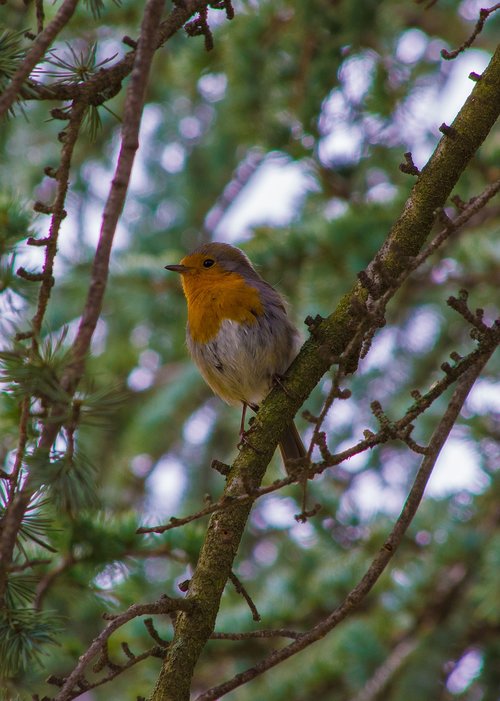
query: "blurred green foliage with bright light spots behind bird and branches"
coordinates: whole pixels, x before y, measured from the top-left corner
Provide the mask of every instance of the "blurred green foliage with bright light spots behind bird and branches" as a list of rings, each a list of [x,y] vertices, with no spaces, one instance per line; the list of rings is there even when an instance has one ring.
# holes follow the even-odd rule
[[[60,466],[48,502],[33,509],[34,532],[54,552],[41,549],[28,533],[24,551],[48,562],[30,577],[19,575],[11,587],[16,605],[34,602],[40,611],[57,614],[59,645],[46,648],[42,639],[38,665],[10,670],[5,698],[53,694],[43,679],[72,668],[101,629],[103,611],[163,592],[179,594],[177,585],[196,563],[205,521],[163,536],[139,537],[135,529],[196,511],[207,494],[218,497],[223,478],[210,463],[236,455],[239,412],[211,395],[187,357],[179,280],[163,266],[202,241],[228,240],[241,245],[287,296],[304,337],[307,314],[333,310],[401,211],[412,185],[398,169],[403,153],[411,150],[415,163],[425,164],[439,125],[451,121],[472,88],[469,72],[481,72],[499,36],[500,13],[489,18],[472,50],[443,61],[441,49],[456,48],[470,35],[481,4],[428,5],[238,0],[232,22],[210,10],[210,53],[202,38],[182,32],[158,52],[105,308],[81,389],[84,420],[79,462],[71,473],[79,482],[75,487],[70,477],[68,485]],[[46,5],[48,19],[57,6]],[[128,50],[121,38],[137,35],[141,4],[106,0],[98,17],[92,7],[80,4],[52,47],[59,67],[42,64],[39,79],[56,80],[58,72],[63,78],[60,59],[94,53],[99,63],[116,55],[112,63]],[[34,17],[34,3],[19,0],[0,8],[1,23],[12,30],[34,29]],[[52,344],[67,330],[55,349],[61,363],[89,282],[123,100],[124,91],[107,103],[111,111],[99,108],[100,127],[87,130],[75,151],[44,328]],[[42,260],[38,249],[28,249],[26,237],[47,231],[48,217],[32,214],[31,206],[50,202],[54,194],[54,181],[44,176],[44,168],[57,167],[59,159],[63,123],[51,119],[54,106],[26,100],[0,132],[0,324],[7,350],[14,332],[27,330],[36,302],[36,284],[15,270],[19,264],[36,270]],[[499,164],[496,131],[457,194],[463,200],[479,194],[500,176]],[[375,427],[371,401],[398,418],[412,402],[410,390],[429,388],[450,352],[472,348],[469,329],[445,302],[466,287],[472,306],[485,308],[488,319],[498,313],[499,226],[497,198],[393,300],[387,326],[348,383],[352,397],[329,417],[332,450]],[[8,361],[4,357],[7,379],[22,383]],[[53,358],[46,361],[53,367]],[[227,698],[498,700],[498,371],[496,357],[467,404],[391,571],[363,608],[321,642]],[[326,377],[307,401],[312,413],[328,387]],[[19,407],[12,386],[4,389],[0,457],[8,470]],[[445,402],[419,420],[415,435],[421,442]],[[308,424],[300,418],[299,424],[307,438]],[[268,481],[282,475],[274,460]],[[390,444],[353,459],[338,474],[327,471],[310,486],[311,503],[322,508],[306,524],[294,520],[298,488],[255,505],[236,571],[262,615],[261,626],[302,630],[341,601],[382,543],[417,466],[416,455]],[[157,627],[169,636],[168,621]],[[217,630],[256,627],[228,585]],[[140,620],[112,639],[112,658],[123,657],[122,640],[135,652],[152,642]],[[275,644],[211,642],[195,691],[251,666]],[[159,665],[150,658],[82,698],[145,695]]]

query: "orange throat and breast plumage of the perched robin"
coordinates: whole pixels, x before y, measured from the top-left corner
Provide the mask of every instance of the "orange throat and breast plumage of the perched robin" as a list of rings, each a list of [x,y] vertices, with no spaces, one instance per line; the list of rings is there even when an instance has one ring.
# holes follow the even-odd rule
[[[225,319],[253,325],[264,313],[259,291],[238,273],[183,275],[182,286],[188,305],[189,330],[196,343],[211,341]]]

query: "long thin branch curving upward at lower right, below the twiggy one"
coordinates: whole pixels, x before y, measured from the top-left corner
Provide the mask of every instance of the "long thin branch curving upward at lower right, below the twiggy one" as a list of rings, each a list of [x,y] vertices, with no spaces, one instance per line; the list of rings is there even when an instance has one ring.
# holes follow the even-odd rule
[[[460,414],[462,406],[467,399],[474,382],[480,375],[482,369],[493,352],[494,349],[490,349],[487,353],[485,352],[480,358],[478,358],[475,365],[469,368],[467,373],[460,378],[448,408],[446,409],[446,412],[432,435],[429,443],[429,454],[422,460],[420,469],[408,494],[403,510],[401,511],[401,514],[394,525],[394,528],[362,579],[349,592],[342,604],[332,611],[329,616],[316,624],[310,631],[303,633],[295,642],[290,643],[285,648],[275,650],[267,658],[262,660],[262,662],[258,663],[254,667],[251,667],[250,669],[247,669],[245,672],[237,674],[235,677],[233,677],[233,679],[230,679],[224,684],[220,684],[219,686],[213,687],[205,693],[200,694],[196,701],[215,701],[216,699],[219,699],[227,694],[229,691],[232,691],[242,684],[246,684],[252,679],[255,679],[280,662],[289,659],[312,643],[323,638],[327,633],[333,630],[333,628],[339,625],[339,623],[341,623],[341,621],[343,621],[347,615],[357,608],[365,599],[392,559],[403,539],[404,534],[408,530],[408,527],[410,526],[422,500],[425,487],[432,474],[432,470],[436,464],[441,449],[443,448]]]

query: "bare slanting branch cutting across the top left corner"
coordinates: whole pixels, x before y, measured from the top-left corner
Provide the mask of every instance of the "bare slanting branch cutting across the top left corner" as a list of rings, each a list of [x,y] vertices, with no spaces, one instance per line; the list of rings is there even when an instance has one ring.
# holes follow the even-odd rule
[[[59,32],[70,21],[77,5],[78,0],[64,0],[52,22],[37,36],[26,58],[14,73],[9,86],[0,97],[0,117],[12,107],[23,87],[24,81],[29,77],[31,71],[44,56]]]

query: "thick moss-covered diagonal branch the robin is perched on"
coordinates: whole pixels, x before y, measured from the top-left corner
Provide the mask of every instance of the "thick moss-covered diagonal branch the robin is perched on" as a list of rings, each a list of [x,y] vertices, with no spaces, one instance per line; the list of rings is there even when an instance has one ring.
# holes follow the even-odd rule
[[[444,135],[423,168],[389,236],[368,266],[379,294],[391,281],[404,278],[408,262],[422,249],[436,218],[473,155],[500,114],[500,47],[451,130]],[[408,268],[411,266],[408,266]],[[259,487],[285,425],[293,418],[332,363],[365,323],[369,293],[361,282],[346,294],[336,310],[315,326],[285,382],[286,393],[273,389],[262,404],[252,430],[252,447],[244,446],[228,475],[224,497],[231,499]],[[369,323],[366,322],[367,324]],[[255,449],[254,449],[255,448]],[[188,598],[197,607],[181,613],[152,701],[187,701],[194,667],[209,639],[220,598],[233,567],[251,502],[214,513],[190,582]]]

